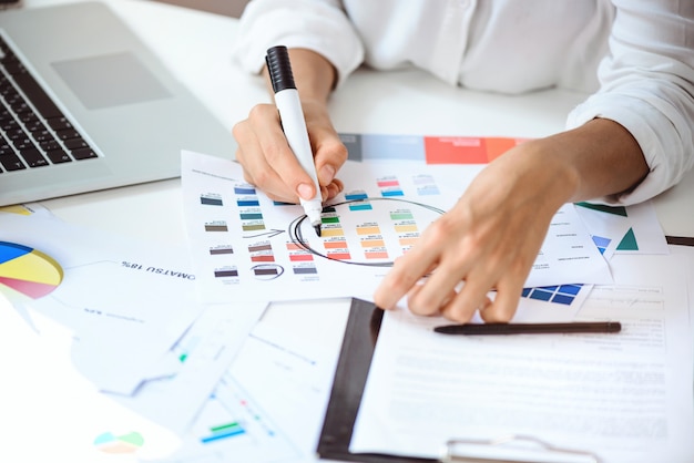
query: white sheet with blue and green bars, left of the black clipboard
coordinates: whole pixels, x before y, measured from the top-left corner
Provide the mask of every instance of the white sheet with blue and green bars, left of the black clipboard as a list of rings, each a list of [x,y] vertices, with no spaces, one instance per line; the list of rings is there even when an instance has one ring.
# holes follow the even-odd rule
[[[156,463],[313,462],[348,311],[349,299],[273,303],[176,451]],[[307,316],[314,323],[286,329]]]

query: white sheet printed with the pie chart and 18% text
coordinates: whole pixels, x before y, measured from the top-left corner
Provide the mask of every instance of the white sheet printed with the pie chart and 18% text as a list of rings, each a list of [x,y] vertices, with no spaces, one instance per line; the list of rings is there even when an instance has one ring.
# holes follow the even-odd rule
[[[201,311],[182,249],[41,215],[0,216],[0,291],[74,335],[75,367],[131,394]]]

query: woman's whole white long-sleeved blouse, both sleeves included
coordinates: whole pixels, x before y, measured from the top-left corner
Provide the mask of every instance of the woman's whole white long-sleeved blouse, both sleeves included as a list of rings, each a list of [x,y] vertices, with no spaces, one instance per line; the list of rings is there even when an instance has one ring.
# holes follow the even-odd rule
[[[252,0],[234,59],[259,72],[277,43],[326,56],[338,85],[361,64],[414,65],[474,90],[591,92],[567,128],[616,121],[651,168],[608,202],[649,199],[694,164],[691,0]]]

